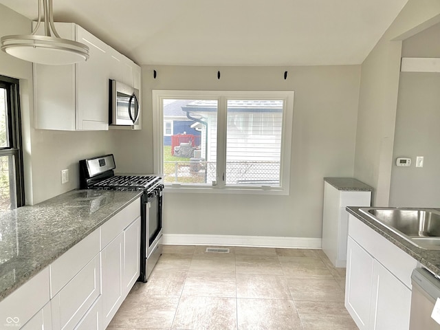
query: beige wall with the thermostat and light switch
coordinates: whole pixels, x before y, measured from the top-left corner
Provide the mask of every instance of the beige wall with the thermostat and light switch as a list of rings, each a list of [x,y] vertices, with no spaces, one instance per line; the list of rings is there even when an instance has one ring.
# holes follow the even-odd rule
[[[406,39],[404,57],[440,58],[440,24]],[[393,160],[410,157],[412,166],[393,163],[390,206],[440,206],[440,75],[401,72]],[[417,156],[423,168],[415,167]]]

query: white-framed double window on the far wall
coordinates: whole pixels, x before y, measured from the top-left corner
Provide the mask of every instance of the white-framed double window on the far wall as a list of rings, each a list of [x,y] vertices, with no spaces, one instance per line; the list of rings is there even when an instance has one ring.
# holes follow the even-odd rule
[[[180,191],[287,195],[293,98],[293,91],[153,91],[155,171]]]

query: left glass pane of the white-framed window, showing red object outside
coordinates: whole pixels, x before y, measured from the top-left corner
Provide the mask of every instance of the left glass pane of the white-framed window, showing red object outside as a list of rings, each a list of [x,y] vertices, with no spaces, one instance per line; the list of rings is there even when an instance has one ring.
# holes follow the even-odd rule
[[[212,184],[217,179],[217,100],[164,100],[164,180]],[[169,133],[171,133],[169,131]]]

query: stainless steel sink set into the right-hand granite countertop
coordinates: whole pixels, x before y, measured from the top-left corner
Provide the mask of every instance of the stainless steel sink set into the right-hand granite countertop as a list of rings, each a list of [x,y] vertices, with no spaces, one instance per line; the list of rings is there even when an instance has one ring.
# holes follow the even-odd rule
[[[440,211],[434,209],[360,208],[418,248],[440,250]]]

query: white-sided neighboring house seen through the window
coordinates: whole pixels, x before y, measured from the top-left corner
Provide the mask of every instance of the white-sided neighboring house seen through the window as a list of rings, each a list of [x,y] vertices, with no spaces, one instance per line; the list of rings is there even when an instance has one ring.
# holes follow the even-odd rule
[[[201,158],[214,162],[217,159],[217,100],[193,100],[181,109],[198,120],[192,126],[201,129]],[[228,100],[227,118],[226,183],[277,184],[283,101]],[[207,177],[208,182],[215,179]]]

